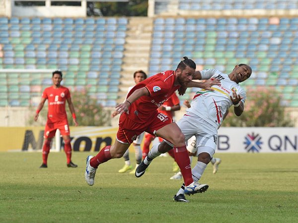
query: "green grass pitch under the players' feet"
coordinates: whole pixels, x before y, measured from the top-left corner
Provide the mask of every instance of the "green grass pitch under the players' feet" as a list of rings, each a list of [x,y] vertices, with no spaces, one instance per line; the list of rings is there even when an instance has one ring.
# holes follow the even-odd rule
[[[95,153],[91,153],[95,155]],[[100,165],[95,184],[84,180],[88,153],[0,153],[1,223],[294,223],[298,222],[298,154],[216,154],[202,194],[173,202],[182,180],[170,180],[172,158],[156,158],[141,178],[118,173],[123,159]],[[132,163],[135,163],[131,153]],[[192,166],[195,165],[193,160]]]

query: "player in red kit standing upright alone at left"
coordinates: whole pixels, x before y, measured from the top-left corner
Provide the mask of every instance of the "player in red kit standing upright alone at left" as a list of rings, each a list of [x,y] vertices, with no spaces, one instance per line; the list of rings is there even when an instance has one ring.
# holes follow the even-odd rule
[[[46,100],[48,100],[48,116],[45,127],[44,138],[45,142],[42,148],[42,165],[41,168],[48,167],[47,160],[50,152],[51,141],[55,136],[56,130],[59,129],[64,140],[64,151],[67,157],[68,167],[77,167],[72,162],[72,145],[70,138],[70,128],[65,111],[66,101],[69,104],[70,111],[73,114],[74,124],[77,126],[74,105],[72,103],[71,94],[68,88],[60,85],[62,81],[62,72],[55,70],[52,73],[53,85],[44,90],[41,102],[39,103],[34,120],[37,121],[38,113],[42,110]]]

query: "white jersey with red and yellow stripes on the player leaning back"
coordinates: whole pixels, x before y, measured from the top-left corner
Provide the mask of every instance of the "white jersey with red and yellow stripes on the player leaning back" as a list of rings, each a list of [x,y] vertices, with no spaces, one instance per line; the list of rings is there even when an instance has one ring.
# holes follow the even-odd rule
[[[216,78],[221,81],[221,85],[214,85],[214,91],[197,88],[191,108],[187,112],[194,113],[203,118],[208,123],[218,128],[223,121],[224,113],[232,106],[230,96],[232,92],[242,97],[241,102],[244,104],[246,99],[245,91],[234,81],[231,81],[227,74],[217,69],[207,69],[200,71],[202,79]]]

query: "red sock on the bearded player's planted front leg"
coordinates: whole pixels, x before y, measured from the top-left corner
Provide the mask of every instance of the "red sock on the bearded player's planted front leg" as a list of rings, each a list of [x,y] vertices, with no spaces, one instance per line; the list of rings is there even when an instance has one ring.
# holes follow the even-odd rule
[[[174,147],[175,161],[177,162],[182,173],[184,183],[186,186],[191,184],[194,180],[192,178],[190,160],[186,146]]]

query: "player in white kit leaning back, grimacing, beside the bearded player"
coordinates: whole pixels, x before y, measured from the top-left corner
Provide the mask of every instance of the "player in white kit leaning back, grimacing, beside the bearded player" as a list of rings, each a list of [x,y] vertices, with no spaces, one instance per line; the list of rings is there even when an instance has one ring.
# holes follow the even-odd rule
[[[220,80],[221,84],[212,86],[213,91],[199,89],[192,100],[191,108],[187,109],[184,116],[177,122],[185,135],[185,140],[193,135],[196,136],[198,162],[192,169],[194,181],[197,182],[201,178],[215,153],[218,128],[224,119],[224,113],[232,105],[237,116],[244,111],[246,93],[239,83],[249,78],[251,72],[251,67],[247,64],[236,65],[230,74],[224,74],[216,69],[196,71],[196,77],[193,79],[214,78]],[[190,82],[188,87],[196,87],[196,82]],[[165,153],[172,148],[173,145],[170,142],[163,141],[158,146],[152,147],[148,157],[152,160],[160,153]],[[184,196],[184,185],[174,196],[174,201],[188,202]]]

